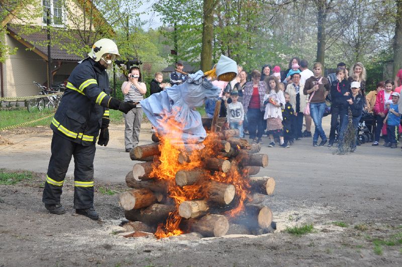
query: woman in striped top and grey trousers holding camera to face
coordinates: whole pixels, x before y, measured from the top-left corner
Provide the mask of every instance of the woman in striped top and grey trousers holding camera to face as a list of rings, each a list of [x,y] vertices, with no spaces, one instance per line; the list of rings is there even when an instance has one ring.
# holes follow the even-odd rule
[[[145,93],[147,93],[145,83],[141,82],[140,68],[131,67],[128,79],[128,81],[125,81],[122,84],[124,101],[140,102],[144,99]],[[127,114],[124,114],[124,120],[126,122],[126,129],[124,131],[124,144],[126,147],[126,152],[130,152],[131,149],[138,145],[142,114],[143,111],[141,104],[137,104],[136,108],[132,109]]]

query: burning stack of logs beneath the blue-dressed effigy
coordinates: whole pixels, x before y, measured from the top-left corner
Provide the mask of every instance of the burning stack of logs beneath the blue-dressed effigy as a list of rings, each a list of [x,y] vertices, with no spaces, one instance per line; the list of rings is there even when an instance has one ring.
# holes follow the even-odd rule
[[[259,153],[259,144],[235,136],[237,129],[210,133],[204,141],[206,148],[197,151],[201,164],[195,168],[184,168],[191,162],[190,152],[178,154],[177,164],[183,169],[175,173],[174,186],[205,193],[203,198],[179,203],[169,193],[172,184],[153,174],[153,169],[161,164],[159,143],[133,149],[131,159],[143,162],[134,164],[126,175],[131,189],[120,195],[120,204],[130,221],[124,227],[155,231],[175,213],[181,219],[182,232],[197,232],[205,237],[270,229],[272,212],[266,203],[273,194],[275,181],[272,177],[251,176],[268,165],[268,155]]]

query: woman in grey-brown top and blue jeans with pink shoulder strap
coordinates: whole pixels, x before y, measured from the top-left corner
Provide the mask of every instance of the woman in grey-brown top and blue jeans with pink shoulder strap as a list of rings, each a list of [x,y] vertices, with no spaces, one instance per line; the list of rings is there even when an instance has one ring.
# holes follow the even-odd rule
[[[327,136],[325,135],[321,122],[323,120],[325,111],[325,98],[331,90],[331,84],[327,78],[321,76],[322,65],[320,62],[314,64],[313,73],[314,76],[308,78],[305,83],[303,93],[310,95],[310,116],[312,117],[316,130],[313,136],[313,146],[324,146],[327,143]],[[314,93],[314,95],[313,95]],[[313,96],[313,97],[312,97]],[[320,145],[317,145],[318,137],[321,137]]]

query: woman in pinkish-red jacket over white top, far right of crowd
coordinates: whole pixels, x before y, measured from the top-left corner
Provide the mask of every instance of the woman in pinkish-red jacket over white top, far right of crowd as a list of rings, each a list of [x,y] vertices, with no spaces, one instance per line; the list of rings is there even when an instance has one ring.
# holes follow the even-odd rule
[[[385,89],[377,93],[377,99],[375,101],[375,105],[373,108],[373,112],[375,114],[375,120],[377,126],[375,128],[375,136],[374,142],[371,144],[373,146],[377,146],[380,140],[380,133],[383,126],[383,120],[388,113],[388,109],[386,108],[386,104],[392,103],[392,87],[393,81],[386,80],[385,81]]]

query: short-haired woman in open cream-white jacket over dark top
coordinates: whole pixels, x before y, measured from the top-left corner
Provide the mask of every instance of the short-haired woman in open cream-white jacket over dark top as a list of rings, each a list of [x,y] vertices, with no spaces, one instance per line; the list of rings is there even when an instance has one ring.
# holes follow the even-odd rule
[[[292,82],[287,84],[285,92],[290,96],[290,105],[294,110],[293,129],[294,138],[300,140],[302,138],[303,117],[306,109],[306,103],[309,100],[308,96],[303,94],[304,84],[300,84],[300,74],[293,73],[291,75]]]

